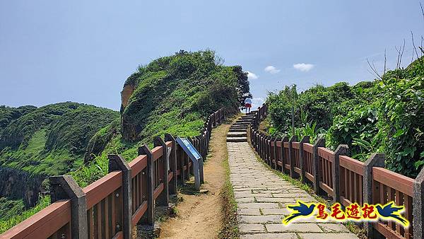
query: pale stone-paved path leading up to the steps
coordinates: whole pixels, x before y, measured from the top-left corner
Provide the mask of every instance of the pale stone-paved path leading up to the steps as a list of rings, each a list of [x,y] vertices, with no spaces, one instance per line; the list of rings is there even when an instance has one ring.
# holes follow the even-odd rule
[[[238,205],[240,238],[357,238],[340,223],[304,218],[288,226],[287,204],[316,200],[262,165],[247,141],[227,142],[230,180]]]

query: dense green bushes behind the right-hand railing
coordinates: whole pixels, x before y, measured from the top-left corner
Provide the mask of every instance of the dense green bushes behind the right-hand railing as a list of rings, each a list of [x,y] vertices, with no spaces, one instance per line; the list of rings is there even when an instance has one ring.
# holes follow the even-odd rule
[[[286,86],[270,93],[269,132],[326,137],[336,148],[348,144],[351,156],[365,161],[370,153],[384,152],[387,168],[416,177],[424,164],[424,62],[417,59],[405,69],[388,71],[375,81],[355,86],[336,83],[297,93]]]

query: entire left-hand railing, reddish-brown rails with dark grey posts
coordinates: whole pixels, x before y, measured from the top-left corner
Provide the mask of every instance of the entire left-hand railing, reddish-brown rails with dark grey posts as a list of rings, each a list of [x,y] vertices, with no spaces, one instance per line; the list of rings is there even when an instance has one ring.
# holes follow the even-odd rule
[[[199,136],[189,137],[206,159],[211,130],[224,119],[210,115]],[[139,147],[129,163],[110,155],[107,175],[81,189],[69,175],[50,177],[52,204],[0,235],[0,238],[131,238],[136,224],[153,225],[155,205],[168,205],[192,174],[187,153],[170,134],[154,148]]]

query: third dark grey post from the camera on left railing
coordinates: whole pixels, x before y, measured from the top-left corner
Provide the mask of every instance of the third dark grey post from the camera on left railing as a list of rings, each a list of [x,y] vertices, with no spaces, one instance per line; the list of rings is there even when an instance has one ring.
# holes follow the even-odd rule
[[[147,156],[147,212],[141,218],[141,221],[153,226],[155,224],[155,199],[153,194],[155,192],[155,185],[153,183],[155,180],[153,175],[152,151],[144,144],[143,146],[139,146],[139,155]]]

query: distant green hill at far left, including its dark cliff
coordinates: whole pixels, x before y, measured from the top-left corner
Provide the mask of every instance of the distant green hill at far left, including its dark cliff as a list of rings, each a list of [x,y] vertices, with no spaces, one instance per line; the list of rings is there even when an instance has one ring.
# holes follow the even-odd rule
[[[49,175],[81,167],[90,138],[119,119],[119,112],[71,102],[0,112],[0,197],[26,206],[37,202]]]

